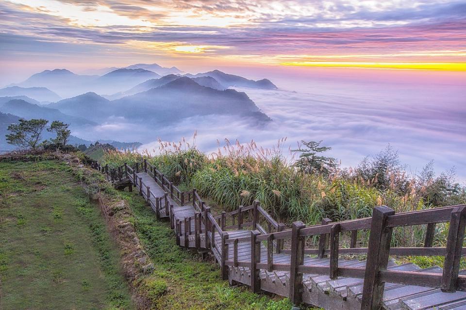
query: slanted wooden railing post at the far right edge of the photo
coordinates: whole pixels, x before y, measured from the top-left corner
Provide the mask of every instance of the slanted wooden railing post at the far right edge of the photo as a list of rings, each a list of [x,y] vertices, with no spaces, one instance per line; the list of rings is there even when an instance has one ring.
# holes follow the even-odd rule
[[[443,265],[442,292],[454,293],[458,285],[458,272],[460,271],[461,252],[465,237],[466,207],[456,207],[451,211],[450,226],[448,229],[447,254]]]

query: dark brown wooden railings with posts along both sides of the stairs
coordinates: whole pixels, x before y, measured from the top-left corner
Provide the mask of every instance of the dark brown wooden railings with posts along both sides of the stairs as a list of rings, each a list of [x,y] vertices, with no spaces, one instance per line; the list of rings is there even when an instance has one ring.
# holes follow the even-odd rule
[[[460,259],[466,255],[466,249],[463,249],[466,228],[466,205],[464,204],[398,214],[386,206],[379,206],[374,208],[372,217],[341,222],[331,222],[328,219],[324,220],[322,224],[307,227],[296,222],[293,223],[292,229],[284,230],[283,224],[275,221],[258,202],[254,202],[250,206],[239,207],[232,212],[223,212],[220,216],[214,217],[210,213],[210,207],[205,206],[195,189],[192,192],[183,193],[147,161],[141,164],[136,163],[135,168],[124,165],[116,169],[109,169],[108,165],[102,167],[98,162],[93,162],[92,166],[104,173],[109,181],[121,179],[123,175],[128,177],[136,185],[136,188],[139,188],[139,192],[151,206],[153,205],[153,202],[150,201],[151,195],[154,197],[155,195],[142,178],[136,176],[139,168],[141,171],[147,171],[156,182],[159,181],[157,184],[166,190],[165,197],[170,195],[178,202],[191,202],[192,200],[195,208],[194,218],[185,217],[182,220],[175,220],[173,205],[170,205],[170,212],[166,211],[176,231],[178,244],[180,244],[180,240],[183,240],[184,247],[192,246],[188,237],[195,235],[195,247],[200,248],[200,236],[203,234],[205,240],[203,247],[210,249],[216,260],[221,263],[222,279],[228,278],[228,266],[250,268],[250,283],[254,292],[260,290],[259,271],[261,269],[269,272],[286,271],[290,273],[288,296],[295,304],[302,301],[302,275],[304,273],[326,275],[331,279],[337,279],[337,277],[363,279],[362,310],[374,310],[380,307],[383,287],[386,282],[440,288],[444,292],[466,291],[466,275],[459,272]],[[144,188],[145,190],[143,190]],[[185,200],[186,197],[187,200]],[[155,206],[157,210],[158,203],[159,201],[156,202]],[[166,208],[167,206],[166,200]],[[252,220],[248,221],[250,213],[252,213]],[[262,222],[259,222],[259,216],[264,219]],[[235,224],[233,221],[233,225],[227,226],[225,224],[226,217],[232,217],[233,220],[236,217],[237,223]],[[244,222],[243,219],[246,219],[247,222]],[[194,232],[191,229],[192,220],[195,223]],[[442,222],[449,223],[447,246],[432,247],[435,224]],[[202,230],[202,223],[204,230]],[[266,226],[263,226],[264,224]],[[394,228],[415,225],[428,226],[423,247],[390,248],[391,234]],[[232,237],[226,231],[227,229],[244,229],[245,227],[252,227],[250,236]],[[272,229],[275,231],[271,232]],[[359,230],[370,232],[366,248],[356,248]],[[345,232],[351,234],[350,248],[339,246],[339,235]],[[221,237],[221,244],[215,238],[217,234]],[[328,242],[325,244],[319,242],[322,244],[319,248],[304,248],[306,238],[313,236],[320,236],[319,241],[325,238]],[[284,239],[291,239],[290,249],[279,248],[279,244],[283,243]],[[260,260],[260,247],[263,242],[267,245],[265,263]],[[244,243],[250,244],[250,260],[238,261],[238,244]],[[274,263],[274,246],[277,247],[277,252],[291,254],[289,264]],[[229,257],[229,247],[233,247],[233,258]],[[244,245],[242,247],[244,248]],[[348,254],[367,254],[366,266],[338,265],[339,256]],[[329,255],[330,264],[324,266],[306,264],[303,259],[304,255],[319,255],[319,257]],[[392,270],[387,266],[389,255],[446,256],[444,272],[438,274]]]

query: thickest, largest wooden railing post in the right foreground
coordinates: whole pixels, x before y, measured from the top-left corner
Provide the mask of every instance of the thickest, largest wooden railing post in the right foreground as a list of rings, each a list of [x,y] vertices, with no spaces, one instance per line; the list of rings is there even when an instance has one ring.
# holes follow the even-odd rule
[[[395,211],[386,206],[375,207],[372,211],[361,310],[382,307],[385,283],[380,280],[379,274],[387,268],[393,230],[387,228],[387,219],[394,214]]]

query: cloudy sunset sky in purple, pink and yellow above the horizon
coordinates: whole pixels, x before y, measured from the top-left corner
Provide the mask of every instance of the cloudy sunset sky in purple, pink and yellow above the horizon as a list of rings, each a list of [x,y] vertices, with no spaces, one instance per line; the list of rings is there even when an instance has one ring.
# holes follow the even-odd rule
[[[1,0],[3,75],[157,62],[466,71],[466,1]]]

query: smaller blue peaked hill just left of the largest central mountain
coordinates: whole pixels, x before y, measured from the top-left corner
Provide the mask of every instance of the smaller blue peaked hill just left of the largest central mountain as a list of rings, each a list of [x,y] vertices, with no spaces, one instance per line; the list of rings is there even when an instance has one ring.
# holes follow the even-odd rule
[[[83,93],[82,95],[63,99],[47,105],[49,108],[77,117],[83,117],[95,122],[102,122],[113,109],[110,101],[97,93]],[[110,114],[111,115],[111,114]]]

